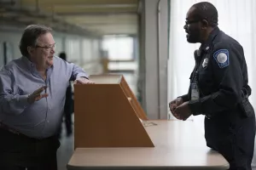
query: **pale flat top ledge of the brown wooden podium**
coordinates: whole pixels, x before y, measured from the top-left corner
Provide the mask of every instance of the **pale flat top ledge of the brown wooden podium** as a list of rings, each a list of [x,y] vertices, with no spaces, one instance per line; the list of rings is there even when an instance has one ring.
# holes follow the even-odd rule
[[[89,78],[96,84],[119,84],[121,82],[122,75],[92,75]]]

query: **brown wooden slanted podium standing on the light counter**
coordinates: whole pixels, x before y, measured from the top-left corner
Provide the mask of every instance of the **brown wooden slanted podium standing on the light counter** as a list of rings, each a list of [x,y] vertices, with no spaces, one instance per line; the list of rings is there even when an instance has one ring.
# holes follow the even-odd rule
[[[74,85],[74,148],[154,147],[143,108],[121,75],[90,76]]]

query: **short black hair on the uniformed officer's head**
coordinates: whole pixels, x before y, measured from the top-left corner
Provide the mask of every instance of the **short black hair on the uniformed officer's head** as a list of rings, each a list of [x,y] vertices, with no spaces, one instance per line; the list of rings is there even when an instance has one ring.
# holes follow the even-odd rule
[[[207,20],[209,26],[218,26],[218,11],[212,3],[201,2],[195,3],[192,7],[195,8],[195,15],[201,20]]]

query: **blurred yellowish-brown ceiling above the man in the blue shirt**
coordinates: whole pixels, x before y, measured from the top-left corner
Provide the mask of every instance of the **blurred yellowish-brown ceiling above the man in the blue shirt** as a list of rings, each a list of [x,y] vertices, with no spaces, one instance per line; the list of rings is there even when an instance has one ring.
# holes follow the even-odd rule
[[[0,20],[56,25],[97,35],[137,34],[139,0],[2,0]],[[2,5],[1,5],[2,6]]]

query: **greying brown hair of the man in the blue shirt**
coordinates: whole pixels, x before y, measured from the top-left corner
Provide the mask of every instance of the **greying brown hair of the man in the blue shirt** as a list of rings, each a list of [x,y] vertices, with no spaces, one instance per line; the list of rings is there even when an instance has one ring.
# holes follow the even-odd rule
[[[37,45],[38,37],[51,32],[51,28],[42,25],[30,25],[24,30],[20,39],[20,53],[28,57],[27,47],[35,47]]]

